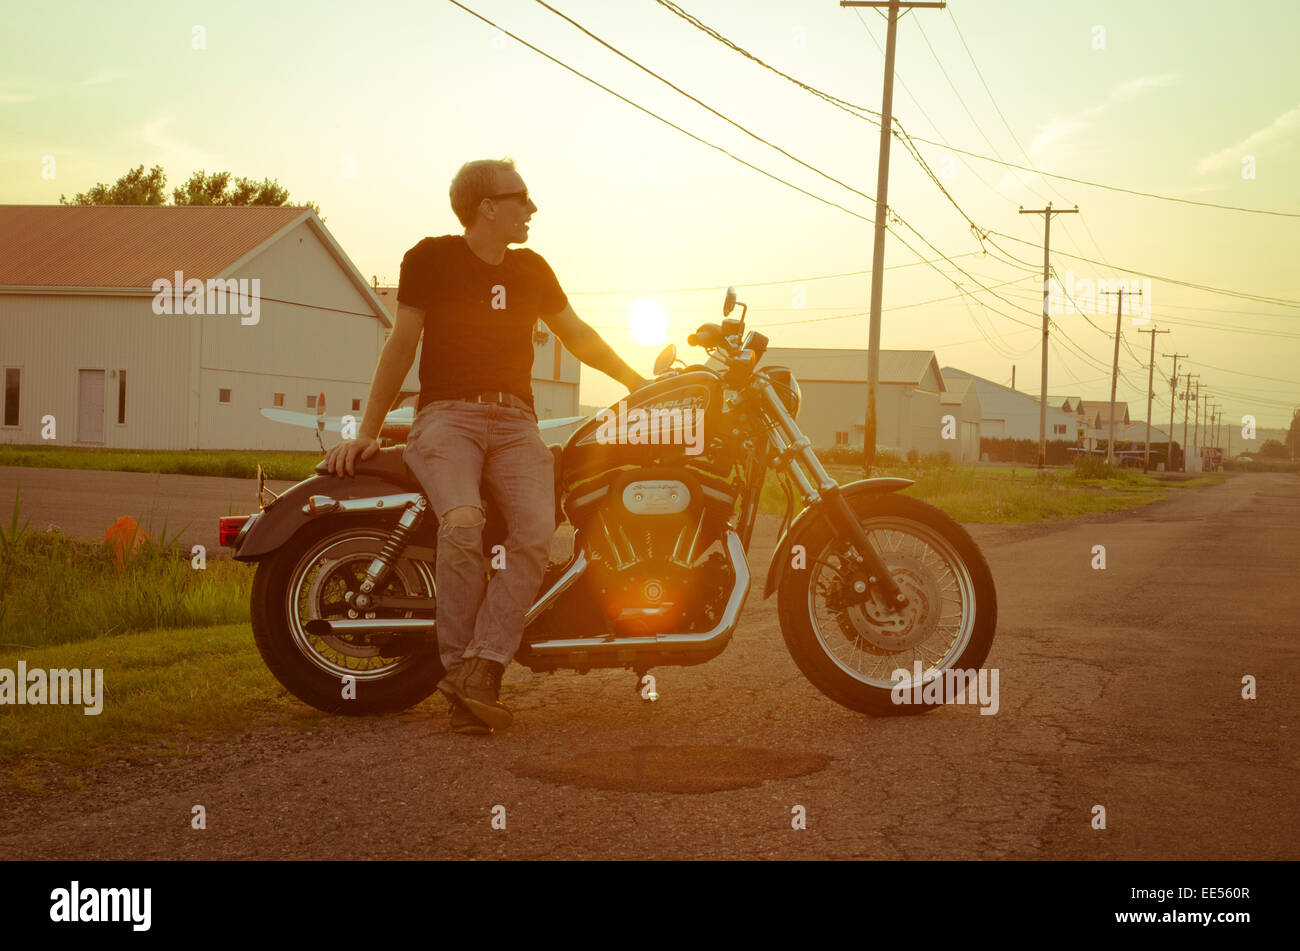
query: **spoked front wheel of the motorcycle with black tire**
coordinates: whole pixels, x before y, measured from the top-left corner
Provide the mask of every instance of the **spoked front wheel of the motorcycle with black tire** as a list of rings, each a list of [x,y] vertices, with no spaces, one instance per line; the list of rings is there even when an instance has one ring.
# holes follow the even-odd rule
[[[993,576],[970,534],[933,505],[900,495],[859,495],[849,504],[907,605],[890,612],[879,596],[854,603],[850,589],[863,579],[848,543],[823,518],[801,539],[806,565],[788,569],[777,592],[785,646],[818,690],[850,709],[932,709],[953,698],[914,689],[918,673],[927,685],[944,670],[974,672],[988,656],[997,628]]]

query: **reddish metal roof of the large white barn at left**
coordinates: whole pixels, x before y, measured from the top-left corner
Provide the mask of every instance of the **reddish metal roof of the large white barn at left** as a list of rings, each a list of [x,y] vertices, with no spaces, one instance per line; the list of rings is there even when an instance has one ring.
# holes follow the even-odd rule
[[[306,208],[0,205],[0,286],[150,287],[207,281]]]

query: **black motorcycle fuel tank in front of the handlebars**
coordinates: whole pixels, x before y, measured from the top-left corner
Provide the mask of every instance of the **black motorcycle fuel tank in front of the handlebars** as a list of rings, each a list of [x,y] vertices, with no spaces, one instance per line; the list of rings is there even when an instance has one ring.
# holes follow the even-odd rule
[[[729,470],[734,437],[722,381],[706,369],[656,379],[582,425],[564,444],[566,488],[623,465],[697,464]]]

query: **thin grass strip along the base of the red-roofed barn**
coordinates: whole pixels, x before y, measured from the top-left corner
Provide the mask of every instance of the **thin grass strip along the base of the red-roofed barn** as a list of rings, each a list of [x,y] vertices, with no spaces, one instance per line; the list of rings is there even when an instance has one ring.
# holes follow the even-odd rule
[[[69,446],[0,446],[0,465],[44,469],[157,472],[181,476],[256,478],[257,464],[268,479],[300,482],[312,476],[320,452],[92,450]]]

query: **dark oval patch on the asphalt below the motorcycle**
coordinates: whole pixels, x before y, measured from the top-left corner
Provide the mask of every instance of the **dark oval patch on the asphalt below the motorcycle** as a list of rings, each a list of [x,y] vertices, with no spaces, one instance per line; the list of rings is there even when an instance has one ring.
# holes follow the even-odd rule
[[[826,754],[740,746],[638,746],[578,754],[558,763],[523,761],[516,776],[619,792],[720,792],[826,769]]]

